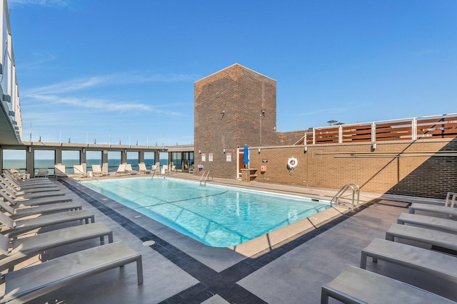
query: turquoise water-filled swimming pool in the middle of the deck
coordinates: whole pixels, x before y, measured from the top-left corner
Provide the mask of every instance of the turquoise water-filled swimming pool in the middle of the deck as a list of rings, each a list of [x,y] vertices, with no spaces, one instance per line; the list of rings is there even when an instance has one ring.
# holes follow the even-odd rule
[[[329,201],[173,178],[81,184],[209,246],[236,246],[330,207]]]

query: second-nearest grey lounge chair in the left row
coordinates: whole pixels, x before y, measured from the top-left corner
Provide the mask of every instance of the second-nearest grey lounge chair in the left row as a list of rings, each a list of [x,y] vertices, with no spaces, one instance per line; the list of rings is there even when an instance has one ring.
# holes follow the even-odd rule
[[[101,223],[56,229],[21,239],[9,239],[0,234],[0,254],[4,255],[0,259],[0,271],[50,248],[94,238],[100,238],[100,243],[104,243],[105,236],[113,243],[113,231]]]

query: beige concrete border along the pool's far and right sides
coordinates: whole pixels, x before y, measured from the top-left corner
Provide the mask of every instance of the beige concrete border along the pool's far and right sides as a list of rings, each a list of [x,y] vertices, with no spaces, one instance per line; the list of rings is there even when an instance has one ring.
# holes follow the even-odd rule
[[[195,181],[195,179],[189,178],[186,175],[188,175],[188,174],[185,174],[184,177],[178,176],[178,174],[174,174],[173,176],[166,175],[164,177],[171,178],[171,179],[174,179],[174,178],[189,179],[189,180]],[[135,175],[135,176],[131,176],[131,177],[141,177],[141,176]],[[146,176],[144,176],[144,177],[146,177]],[[110,177],[108,177],[108,179],[109,178]],[[111,178],[113,178],[113,177],[111,177]],[[119,177],[116,177],[116,178],[119,178]],[[129,176],[124,177],[124,178],[129,178]],[[104,179],[106,179],[106,178],[104,178]],[[74,180],[77,182],[79,180],[83,181],[83,180],[90,180],[90,179],[74,179]],[[277,192],[277,193],[281,193],[281,194],[311,196],[311,197],[316,197],[318,199],[325,199],[328,201],[330,201],[333,194],[336,194],[336,192],[337,192],[337,190],[332,190],[332,189],[315,189],[315,188],[303,187],[303,192],[291,193],[290,191],[288,191],[287,185],[276,185],[278,187],[278,189],[274,189],[275,187],[273,187],[273,189],[271,189],[271,186],[274,186],[274,185],[271,185],[271,184],[263,185],[263,184],[252,183],[252,182],[246,184],[246,183],[243,183],[243,182],[240,182],[237,180],[226,180],[226,179],[221,179],[221,180],[215,179],[211,183],[232,186],[232,187],[241,187],[244,189],[256,189],[259,191]],[[361,192],[361,200],[360,200],[359,205],[362,206],[363,204],[366,204],[369,201],[372,201],[373,199],[377,199],[381,195],[382,194]],[[229,246],[229,247],[224,247],[224,248],[228,248],[231,251],[235,251],[236,253],[241,254],[242,256],[245,256],[247,258],[255,258],[256,256],[259,256],[263,253],[272,251],[276,248],[280,248],[281,246],[283,246],[283,244],[293,241],[294,239],[297,239],[298,237],[303,236],[304,234],[308,234],[311,231],[318,229],[319,227],[323,226],[324,224],[327,224],[328,222],[333,221],[334,219],[337,219],[339,216],[343,216],[344,214],[347,214],[350,211],[351,211],[351,209],[346,206],[333,206],[331,208],[328,208],[324,211],[319,212],[318,214],[313,214],[312,216],[308,216],[306,219],[296,221],[295,223],[289,224],[288,226],[283,226],[274,231],[270,231],[267,234],[258,236],[256,239],[246,241],[245,243],[241,243],[236,246]],[[176,231],[176,233],[181,234],[179,231]],[[203,243],[202,243],[202,245],[207,246]],[[211,246],[209,246],[209,247],[211,247]]]

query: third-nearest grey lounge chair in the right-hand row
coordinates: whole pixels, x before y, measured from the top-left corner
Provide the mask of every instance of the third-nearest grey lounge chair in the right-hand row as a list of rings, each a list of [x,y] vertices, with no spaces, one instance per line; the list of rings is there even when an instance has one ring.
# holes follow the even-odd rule
[[[391,228],[386,231],[386,240],[394,241],[395,238],[418,241],[432,246],[457,251],[457,234],[450,234],[444,231],[416,226],[391,224]]]

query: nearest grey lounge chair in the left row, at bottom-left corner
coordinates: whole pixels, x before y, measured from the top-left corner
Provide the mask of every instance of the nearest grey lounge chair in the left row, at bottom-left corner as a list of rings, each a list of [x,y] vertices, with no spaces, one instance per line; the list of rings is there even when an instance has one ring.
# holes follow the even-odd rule
[[[136,262],[138,284],[143,283],[141,254],[125,243],[109,243],[103,246],[77,251],[38,265],[6,273],[3,302],[19,300],[24,303],[53,290],[111,268]]]

